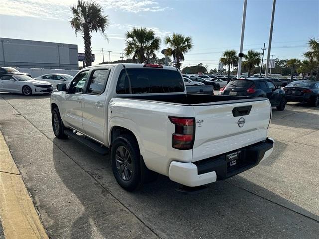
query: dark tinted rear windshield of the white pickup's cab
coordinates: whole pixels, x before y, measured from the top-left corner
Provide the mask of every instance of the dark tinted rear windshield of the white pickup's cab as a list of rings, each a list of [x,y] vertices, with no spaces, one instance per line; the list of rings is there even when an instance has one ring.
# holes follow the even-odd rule
[[[184,90],[180,73],[164,69],[123,69],[116,85],[117,94],[171,93]]]

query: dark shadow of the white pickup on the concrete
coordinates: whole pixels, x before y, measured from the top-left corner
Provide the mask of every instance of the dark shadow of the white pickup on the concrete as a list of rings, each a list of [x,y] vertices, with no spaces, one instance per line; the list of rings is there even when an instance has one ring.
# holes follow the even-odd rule
[[[58,145],[57,141],[54,139],[54,144]],[[61,147],[69,146],[61,145]],[[82,153],[91,154],[91,157],[82,158]],[[70,157],[78,165],[86,165],[91,162],[96,164],[95,156],[97,156],[95,153],[82,147]],[[127,213],[133,213],[161,238],[316,238],[318,236],[317,215],[241,176],[235,176],[236,181],[226,180],[209,184],[207,190],[194,195],[178,193],[175,191],[176,187],[179,187],[178,184],[165,176],[160,176],[156,182],[146,184],[137,192],[129,193],[116,183],[107,159],[108,157],[100,162],[101,166],[107,166],[103,169],[90,170],[85,166],[82,168],[83,172],[91,176],[91,179],[85,182],[83,178],[70,176],[65,168],[59,166],[61,160],[71,159],[69,157],[62,159],[60,149],[57,146],[53,147],[56,173],[83,206],[82,213],[72,222],[71,238],[79,238],[81,235],[84,238],[94,238],[96,231],[105,238],[112,238],[110,232],[114,233],[115,228],[112,225],[116,223],[114,222],[116,217],[107,213],[110,205],[101,202],[103,201],[101,197],[107,198],[110,194],[129,209],[130,212],[124,209]],[[100,188],[98,194],[96,187]],[[84,227],[90,224],[94,225],[94,229]]]

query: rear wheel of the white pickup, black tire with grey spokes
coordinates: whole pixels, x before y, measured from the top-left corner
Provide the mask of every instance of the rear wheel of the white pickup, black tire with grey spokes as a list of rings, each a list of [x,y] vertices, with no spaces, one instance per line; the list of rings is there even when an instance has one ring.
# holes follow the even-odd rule
[[[140,150],[132,135],[120,135],[113,141],[111,167],[116,181],[125,190],[134,191],[142,186]]]

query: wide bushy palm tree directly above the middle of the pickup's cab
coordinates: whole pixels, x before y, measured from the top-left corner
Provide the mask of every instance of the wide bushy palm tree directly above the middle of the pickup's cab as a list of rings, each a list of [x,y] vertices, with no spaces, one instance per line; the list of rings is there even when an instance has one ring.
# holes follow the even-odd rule
[[[132,55],[135,62],[142,63],[155,58],[155,52],[160,50],[160,37],[156,37],[153,30],[145,27],[133,27],[131,31],[126,32],[125,37],[125,55],[127,57]]]

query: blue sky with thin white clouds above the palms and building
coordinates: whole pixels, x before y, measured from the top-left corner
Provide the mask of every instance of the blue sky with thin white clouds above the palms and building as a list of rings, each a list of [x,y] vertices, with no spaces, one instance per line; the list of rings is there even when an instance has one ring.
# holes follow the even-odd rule
[[[83,39],[71,28],[70,6],[76,0],[1,0],[0,37],[77,44]],[[96,0],[108,15],[106,34],[93,33],[95,63],[102,62],[102,48],[111,61],[120,60],[124,35],[132,27],[153,29],[162,39],[173,32],[193,39],[183,66],[203,63],[218,68],[222,52],[239,51],[244,0]],[[247,0],[244,53],[268,48],[273,0]],[[277,0],[271,54],[274,58],[303,59],[310,37],[319,38],[319,0]],[[160,52],[159,58],[164,57]],[[265,51],[267,56],[267,49]],[[109,53],[104,54],[104,61]],[[264,62],[265,63],[265,62]]]

